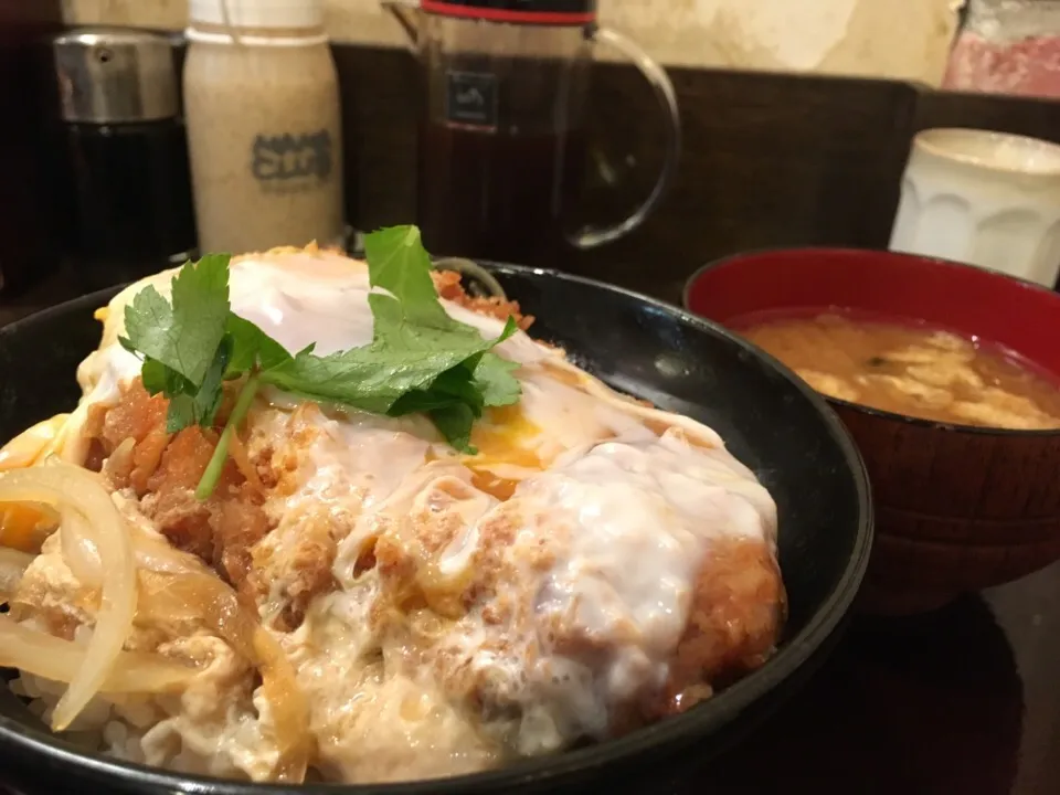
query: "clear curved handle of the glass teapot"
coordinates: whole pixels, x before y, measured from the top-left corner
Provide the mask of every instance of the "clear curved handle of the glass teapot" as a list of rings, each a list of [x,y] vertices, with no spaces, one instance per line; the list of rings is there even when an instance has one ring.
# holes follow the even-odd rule
[[[571,243],[582,250],[596,248],[605,243],[612,243],[643,224],[666,195],[674,172],[677,170],[678,160],[681,157],[681,117],[677,109],[677,95],[674,92],[674,84],[670,83],[666,70],[651,60],[632,40],[610,28],[595,28],[591,31],[590,36],[593,41],[606,44],[625,55],[648,81],[655,92],[666,125],[666,159],[662,161],[662,170],[659,172],[659,178],[656,180],[648,198],[625,221],[611,226],[589,226],[571,239]]]

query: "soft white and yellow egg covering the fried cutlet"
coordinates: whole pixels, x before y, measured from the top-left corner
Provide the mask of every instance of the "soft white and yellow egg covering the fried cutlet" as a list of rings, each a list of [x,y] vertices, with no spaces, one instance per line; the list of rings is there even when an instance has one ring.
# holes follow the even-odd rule
[[[172,275],[97,312],[102,344],[77,371],[84,399],[4,447],[0,468],[53,454],[86,462],[91,416],[119,405],[139,375],[118,343],[124,307],[147,284],[168,295]],[[233,311],[289,351],[370,342],[369,293],[363,264],[338,255],[231,266]],[[486,338],[502,329],[444,305]],[[604,738],[650,719],[644,704],[661,714],[687,687],[709,692],[704,670],[753,667],[776,639],[776,508],[720,437],[614,393],[523,332],[497,352],[519,364],[522,398],[487,412],[473,456],[423,417],[275,390],[247,416],[239,454],[266,484],[267,532],[239,552],[308,697],[325,777],[447,775]],[[160,510],[152,499],[145,510]],[[31,532],[39,519],[12,527]],[[226,676],[216,687],[230,700],[242,688],[229,711],[239,725],[215,725],[216,710],[203,709],[206,731],[169,703],[165,730],[121,730],[123,753],[142,736],[155,764],[265,775],[271,746],[262,740],[255,757],[246,738],[267,736],[267,707],[250,672],[237,685]]]

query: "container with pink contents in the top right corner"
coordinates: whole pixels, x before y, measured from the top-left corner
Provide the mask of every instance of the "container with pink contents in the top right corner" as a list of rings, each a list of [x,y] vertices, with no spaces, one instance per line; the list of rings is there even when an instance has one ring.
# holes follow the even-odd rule
[[[972,0],[943,87],[1060,98],[1060,2]]]

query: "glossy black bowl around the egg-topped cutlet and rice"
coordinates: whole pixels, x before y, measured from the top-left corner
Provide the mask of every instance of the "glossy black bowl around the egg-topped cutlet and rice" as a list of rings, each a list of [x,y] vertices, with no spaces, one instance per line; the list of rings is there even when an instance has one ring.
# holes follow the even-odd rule
[[[523,311],[537,317],[534,336],[562,346],[612,386],[711,425],[757,473],[780,511],[789,597],[784,642],[760,670],[709,701],[618,740],[471,776],[372,787],[310,785],[299,793],[551,793],[604,773],[604,765],[613,774],[623,763],[692,743],[703,760],[732,740],[738,718],[746,723],[776,692],[805,678],[807,661],[834,639],[865,574],[872,541],[865,468],[836,415],[799,379],[722,328],[669,305],[547,271],[491,269]],[[74,404],[74,370],[99,341],[93,310],[114,293],[85,296],[0,329],[0,439]],[[112,793],[277,792],[84,754],[51,736],[6,690],[0,754],[11,783],[41,792],[68,791],[74,782]]]

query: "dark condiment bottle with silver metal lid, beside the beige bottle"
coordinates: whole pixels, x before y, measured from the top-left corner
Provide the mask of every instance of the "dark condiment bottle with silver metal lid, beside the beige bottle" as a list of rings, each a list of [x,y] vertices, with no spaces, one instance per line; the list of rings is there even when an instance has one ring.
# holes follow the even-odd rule
[[[76,280],[95,289],[183,263],[197,241],[170,40],[75,30],[53,49]]]

